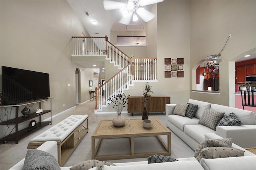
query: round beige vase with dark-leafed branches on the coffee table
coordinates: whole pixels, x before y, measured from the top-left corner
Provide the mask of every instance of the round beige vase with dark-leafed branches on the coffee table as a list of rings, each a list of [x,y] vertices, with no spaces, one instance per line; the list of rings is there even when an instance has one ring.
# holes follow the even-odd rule
[[[115,94],[114,96],[108,99],[111,102],[112,107],[116,110],[116,113],[117,113],[117,116],[114,117],[114,119],[112,120],[113,125],[116,127],[122,127],[125,125],[125,117],[121,115],[121,113],[126,105],[126,101],[129,98],[129,96],[130,94],[126,96],[124,93]]]

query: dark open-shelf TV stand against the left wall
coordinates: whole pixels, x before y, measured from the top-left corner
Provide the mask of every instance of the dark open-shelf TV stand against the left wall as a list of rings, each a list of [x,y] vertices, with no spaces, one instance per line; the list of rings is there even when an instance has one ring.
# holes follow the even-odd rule
[[[33,112],[33,113],[30,113],[27,117],[18,116],[19,106],[25,106],[25,105],[29,105],[29,104],[39,103],[39,108],[41,108],[41,102],[45,102],[45,101],[49,101],[49,100],[50,100],[50,110],[43,110],[43,112],[41,112],[41,113]],[[3,142],[4,141],[15,141],[15,144],[17,144],[20,139],[30,135],[34,131],[37,131],[37,130],[41,129],[42,127],[44,127],[48,124],[52,124],[52,98],[32,100],[32,101],[28,101],[28,102],[18,103],[18,104],[15,104],[15,105],[4,105],[4,106],[0,106],[0,107],[15,107],[16,108],[14,119],[10,119],[10,120],[7,120],[7,121],[0,122],[0,125],[15,125],[15,133],[12,133],[12,134],[7,135],[6,137],[3,137],[2,139],[0,139]],[[51,121],[41,121],[41,115],[44,115],[46,113],[50,113]],[[22,123],[24,121],[28,121],[28,120],[33,119],[35,117],[39,117],[39,122],[36,123],[36,125],[37,125],[36,128],[30,129],[28,131],[28,127],[26,127],[24,129],[18,131],[18,124],[19,123]]]

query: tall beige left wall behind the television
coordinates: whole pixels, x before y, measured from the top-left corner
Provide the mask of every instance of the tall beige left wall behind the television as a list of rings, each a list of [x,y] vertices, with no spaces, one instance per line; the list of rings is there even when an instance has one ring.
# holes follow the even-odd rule
[[[49,73],[50,97],[54,98],[52,115],[74,107],[75,71],[80,66],[71,61],[71,37],[81,36],[82,33],[88,36],[88,33],[68,2],[1,0],[0,4],[1,66]],[[86,84],[89,82],[86,78],[81,80]],[[86,88],[82,88],[85,95],[86,91]],[[84,97],[81,99],[82,102],[86,100]],[[48,106],[47,104],[46,107]],[[38,109],[38,105],[32,111],[36,111],[36,108]],[[14,115],[12,109],[10,117],[13,118]],[[47,117],[49,114],[42,119]],[[1,119],[5,120],[6,117]],[[24,122],[19,124],[19,129],[27,126],[28,122]],[[10,131],[6,132],[6,128],[1,128],[1,137]]]

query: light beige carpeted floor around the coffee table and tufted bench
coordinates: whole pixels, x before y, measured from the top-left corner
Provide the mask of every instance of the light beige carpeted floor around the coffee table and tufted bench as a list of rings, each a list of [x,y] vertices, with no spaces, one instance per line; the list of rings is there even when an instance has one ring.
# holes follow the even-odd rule
[[[53,125],[56,125],[58,122],[64,120],[69,115],[82,115],[88,114],[89,115],[89,132],[86,136],[82,139],[76,150],[64,164],[64,166],[73,166],[79,162],[84,160],[90,160],[92,157],[91,152],[91,135],[96,129],[98,123],[102,119],[109,119],[112,120],[116,114],[94,114],[94,107],[95,107],[95,100],[88,101],[84,104],[77,105],[75,108],[69,109],[68,111],[54,117],[52,119],[52,125],[48,125],[35,133],[32,133],[28,137],[21,139],[18,144],[14,142],[9,142],[6,144],[0,145],[0,169],[1,170],[8,170],[18,161],[22,160],[26,156],[26,147],[29,141],[45,131],[49,129]],[[127,119],[140,119],[142,117],[141,113],[134,113],[134,116],[130,113],[122,113]],[[156,117],[160,120],[164,125],[166,125],[165,115],[161,113],[150,113],[150,117]],[[163,141],[167,143],[167,138],[162,137]],[[148,148],[152,149],[159,149],[161,147],[158,146],[158,143],[154,142],[154,138],[138,138],[136,139],[136,148],[140,150],[145,150]],[[174,133],[172,133],[172,157],[173,158],[184,158],[184,157],[192,157],[194,156],[194,150],[192,150],[188,145],[186,145],[179,137],[177,137]],[[122,152],[129,152],[129,145],[128,139],[118,139],[118,140],[103,140],[102,144],[100,145],[99,154],[104,153],[119,153]],[[132,162],[132,161],[143,161],[147,160],[147,158],[134,158],[134,159],[122,159],[122,160],[107,160],[107,162]]]

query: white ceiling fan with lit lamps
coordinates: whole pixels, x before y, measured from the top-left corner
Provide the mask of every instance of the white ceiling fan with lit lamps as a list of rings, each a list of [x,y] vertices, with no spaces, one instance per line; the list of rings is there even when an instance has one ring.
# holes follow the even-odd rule
[[[137,21],[138,16],[140,16],[144,22],[152,20],[156,15],[148,10],[145,10],[141,6],[156,4],[163,1],[164,0],[127,0],[127,3],[124,3],[112,0],[104,0],[103,5],[105,10],[122,10],[123,16],[119,23],[129,24],[131,20]]]

